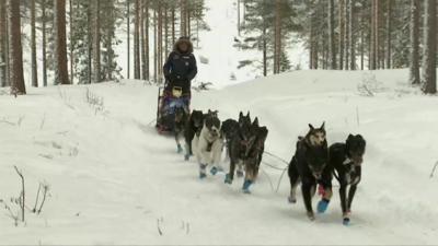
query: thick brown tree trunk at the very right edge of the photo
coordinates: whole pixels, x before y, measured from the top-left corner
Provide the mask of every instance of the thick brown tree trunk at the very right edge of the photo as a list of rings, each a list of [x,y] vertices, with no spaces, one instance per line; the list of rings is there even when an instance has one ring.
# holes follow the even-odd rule
[[[437,93],[437,3],[435,0],[425,1],[424,30],[424,82],[423,92]]]

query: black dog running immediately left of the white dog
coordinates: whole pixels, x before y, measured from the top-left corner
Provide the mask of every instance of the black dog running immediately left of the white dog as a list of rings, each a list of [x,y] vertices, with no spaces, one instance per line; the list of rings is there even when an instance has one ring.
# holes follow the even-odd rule
[[[191,155],[193,155],[192,141],[195,134],[200,134],[200,130],[204,127],[204,114],[201,110],[193,110],[191,117],[185,126],[184,137],[185,137],[185,160],[188,161]]]

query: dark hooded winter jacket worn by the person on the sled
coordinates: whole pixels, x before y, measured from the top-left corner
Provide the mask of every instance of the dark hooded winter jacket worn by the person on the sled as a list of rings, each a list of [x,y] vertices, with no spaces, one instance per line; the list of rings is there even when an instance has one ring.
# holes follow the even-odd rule
[[[186,52],[182,52],[178,49],[182,43],[186,43],[187,45]],[[193,45],[188,38],[180,38],[175,43],[173,51],[169,55],[163,66],[163,72],[169,90],[173,86],[181,86],[184,94],[189,94],[191,82],[196,77],[198,70],[196,67],[196,58],[193,55]]]

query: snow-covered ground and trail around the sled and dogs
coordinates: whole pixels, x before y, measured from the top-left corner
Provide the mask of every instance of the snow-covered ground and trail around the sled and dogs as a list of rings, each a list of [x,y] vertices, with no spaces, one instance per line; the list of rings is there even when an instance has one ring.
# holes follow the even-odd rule
[[[266,165],[250,196],[241,180],[224,185],[223,174],[200,181],[196,164],[148,125],[157,87],[142,82],[89,86],[104,98],[97,113],[85,103],[85,86],[1,95],[0,199],[19,195],[14,165],[24,172],[28,207],[41,180],[50,197],[39,216],[27,212],[18,227],[0,208],[0,244],[436,244],[438,179],[429,175],[438,161],[437,97],[406,86],[406,70],[376,72],[382,83],[369,85],[380,92],[360,96],[357,84],[370,74],[300,71],[193,99],[222,119],[251,109],[269,128],[266,149],[287,161],[309,122],[326,120],[330,142],[364,134],[368,152],[348,227],[337,192],[327,213],[310,222],[300,196],[287,203],[286,177],[275,192],[281,172]]]

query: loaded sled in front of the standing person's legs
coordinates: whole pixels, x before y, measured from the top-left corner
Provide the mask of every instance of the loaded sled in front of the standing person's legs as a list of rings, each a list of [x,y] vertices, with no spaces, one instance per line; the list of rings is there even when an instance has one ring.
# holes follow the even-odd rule
[[[183,93],[182,87],[174,86],[171,90],[160,87],[158,92],[157,131],[161,133],[173,132],[175,126],[176,109],[183,108],[189,112],[191,96]]]

